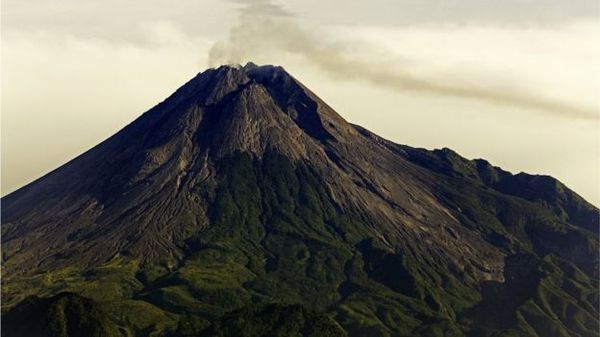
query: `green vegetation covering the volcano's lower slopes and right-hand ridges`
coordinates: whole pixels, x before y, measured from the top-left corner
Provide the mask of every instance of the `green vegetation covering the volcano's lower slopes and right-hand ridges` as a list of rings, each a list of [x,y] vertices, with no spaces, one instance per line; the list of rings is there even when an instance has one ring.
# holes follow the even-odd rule
[[[440,175],[440,199],[506,253],[504,283],[392,250],[366,215],[341,213],[301,162],[238,153],[198,192],[211,200],[211,225],[187,242],[177,266],[119,258],[10,280],[3,333],[597,336],[597,238],[537,201],[490,188],[468,163],[454,167]],[[44,298],[23,299],[29,294]]]

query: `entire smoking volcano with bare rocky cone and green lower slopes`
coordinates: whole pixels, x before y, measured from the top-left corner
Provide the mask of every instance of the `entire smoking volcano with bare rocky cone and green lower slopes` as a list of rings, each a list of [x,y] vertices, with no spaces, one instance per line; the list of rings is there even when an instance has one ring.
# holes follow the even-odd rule
[[[599,219],[221,66],[2,198],[2,333],[598,336]]]

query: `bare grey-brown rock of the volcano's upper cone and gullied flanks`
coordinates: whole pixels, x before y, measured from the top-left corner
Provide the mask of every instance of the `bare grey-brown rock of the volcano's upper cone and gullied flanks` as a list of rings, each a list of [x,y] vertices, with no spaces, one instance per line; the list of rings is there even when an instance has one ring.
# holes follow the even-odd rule
[[[114,137],[8,196],[6,267],[52,268],[57,254],[83,264],[123,254],[177,260],[185,240],[210,226],[208,201],[192,191],[214,179],[215,162],[268,150],[317,170],[341,211],[372,216],[379,222],[373,231],[390,248],[418,243],[415,249],[459,265],[477,261],[482,278],[501,277],[502,252],[436,200],[435,177],[364,137],[271,66],[208,70]]]

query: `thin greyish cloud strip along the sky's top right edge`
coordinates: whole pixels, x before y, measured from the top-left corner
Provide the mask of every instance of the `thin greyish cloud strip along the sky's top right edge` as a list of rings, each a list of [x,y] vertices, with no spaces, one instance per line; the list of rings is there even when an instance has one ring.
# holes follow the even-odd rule
[[[334,17],[360,17],[362,22],[386,26],[429,23],[548,26],[582,18],[597,20],[599,13],[596,0],[370,0],[355,2],[353,6],[319,3],[323,11]]]

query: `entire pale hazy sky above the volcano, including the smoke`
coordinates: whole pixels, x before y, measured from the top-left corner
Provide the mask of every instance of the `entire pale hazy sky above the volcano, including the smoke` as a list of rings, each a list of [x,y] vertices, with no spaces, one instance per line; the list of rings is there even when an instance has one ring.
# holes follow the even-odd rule
[[[3,0],[1,192],[196,73],[282,65],[346,120],[600,205],[597,0]]]

